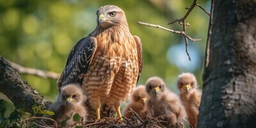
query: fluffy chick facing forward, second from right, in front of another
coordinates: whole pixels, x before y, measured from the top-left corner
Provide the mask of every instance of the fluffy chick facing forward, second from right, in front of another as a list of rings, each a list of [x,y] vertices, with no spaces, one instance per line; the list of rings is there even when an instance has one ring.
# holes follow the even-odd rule
[[[153,117],[163,116],[166,127],[184,127],[186,111],[180,102],[178,95],[170,92],[160,77],[150,77],[146,83],[148,100],[146,109],[148,115]]]

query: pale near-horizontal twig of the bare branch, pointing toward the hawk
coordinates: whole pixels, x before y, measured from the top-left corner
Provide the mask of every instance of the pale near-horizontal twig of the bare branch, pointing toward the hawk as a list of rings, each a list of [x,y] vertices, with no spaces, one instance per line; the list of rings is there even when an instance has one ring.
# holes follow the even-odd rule
[[[191,40],[191,42],[196,42],[196,41],[200,41],[202,39],[200,38],[191,38],[190,36],[186,35],[186,33],[184,33],[184,31],[175,31],[173,29],[168,29],[168,28],[164,28],[163,26],[159,26],[159,25],[156,25],[156,24],[149,24],[147,22],[141,22],[141,21],[138,21],[138,24],[141,24],[143,26],[149,26],[149,27],[153,27],[153,28],[159,28],[159,29],[163,29],[165,31],[170,31],[172,33],[175,33],[175,34],[180,34],[180,35],[184,35],[186,36],[189,40]]]

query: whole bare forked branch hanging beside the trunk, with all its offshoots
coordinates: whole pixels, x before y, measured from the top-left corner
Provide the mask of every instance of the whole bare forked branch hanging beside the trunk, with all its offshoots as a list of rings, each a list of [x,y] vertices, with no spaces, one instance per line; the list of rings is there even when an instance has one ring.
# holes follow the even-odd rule
[[[173,29],[164,28],[163,26],[159,26],[159,25],[156,25],[156,24],[149,24],[147,22],[138,21],[138,24],[141,24],[141,25],[144,25],[144,26],[150,26],[150,27],[154,27],[154,28],[159,28],[159,29],[164,29],[164,30],[170,31],[172,33],[183,35],[184,39],[185,39],[185,44],[186,44],[186,53],[188,55],[189,61],[191,61],[191,58],[190,58],[189,52],[188,52],[188,39],[191,42],[196,42],[196,41],[202,40],[202,39],[191,38],[190,36],[188,36],[186,34],[186,27],[190,25],[190,24],[188,24],[188,22],[186,22],[186,18],[188,17],[189,13],[195,8],[195,6],[198,6],[199,8],[201,8],[205,13],[207,13],[207,15],[210,15],[209,12],[207,12],[204,8],[202,8],[202,6],[200,6],[198,4],[198,0],[193,0],[193,3],[191,4],[191,6],[189,8],[186,8],[188,10],[188,12],[184,15],[184,17],[182,17],[181,19],[176,19],[173,22],[168,23],[168,25],[169,25],[169,24],[173,24],[175,22],[179,22],[179,24],[182,25],[182,28],[183,28],[182,31],[175,31]]]

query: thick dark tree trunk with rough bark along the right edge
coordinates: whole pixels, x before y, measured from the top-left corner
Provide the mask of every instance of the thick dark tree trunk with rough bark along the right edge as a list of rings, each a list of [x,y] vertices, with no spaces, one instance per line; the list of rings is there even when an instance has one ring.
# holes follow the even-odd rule
[[[256,1],[212,0],[198,127],[256,127]]]

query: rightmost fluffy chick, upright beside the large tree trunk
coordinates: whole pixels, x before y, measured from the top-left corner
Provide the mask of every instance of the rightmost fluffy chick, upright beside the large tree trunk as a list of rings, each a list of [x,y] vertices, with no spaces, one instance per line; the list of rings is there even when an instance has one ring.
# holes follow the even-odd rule
[[[196,128],[199,115],[198,108],[202,97],[202,91],[197,89],[196,77],[191,73],[180,74],[177,87],[188,115],[190,127]]]

